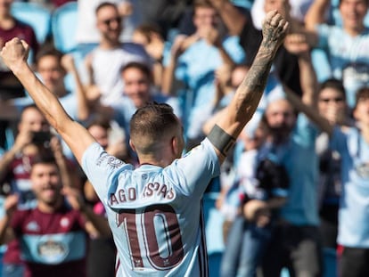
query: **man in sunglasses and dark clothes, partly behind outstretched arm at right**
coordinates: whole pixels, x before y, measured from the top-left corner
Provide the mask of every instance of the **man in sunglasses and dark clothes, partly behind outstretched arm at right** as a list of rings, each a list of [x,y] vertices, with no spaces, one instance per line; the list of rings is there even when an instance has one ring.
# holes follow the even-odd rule
[[[348,128],[354,122],[348,114],[345,89],[337,79],[328,79],[319,87],[317,108],[331,124]],[[340,153],[329,148],[329,137],[319,134],[316,140],[319,155],[319,216],[323,246],[337,247],[338,212],[340,205]]]

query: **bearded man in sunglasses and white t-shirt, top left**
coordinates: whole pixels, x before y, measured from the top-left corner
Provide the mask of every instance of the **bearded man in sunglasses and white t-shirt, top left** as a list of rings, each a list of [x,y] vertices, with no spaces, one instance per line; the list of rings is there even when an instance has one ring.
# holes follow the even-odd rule
[[[96,8],[96,27],[100,32],[99,45],[86,56],[87,85],[94,90],[95,97],[103,105],[116,102],[124,84],[120,78],[120,69],[128,62],[143,62],[151,66],[150,56],[142,45],[121,43],[121,17],[118,7],[111,3],[102,3]]]

